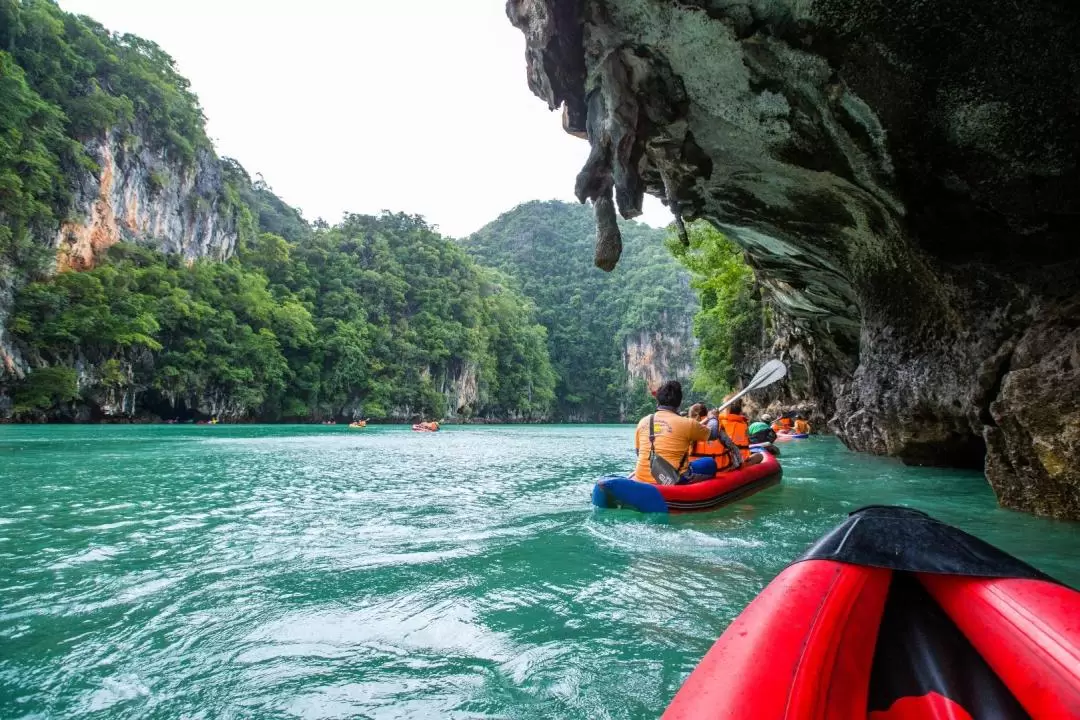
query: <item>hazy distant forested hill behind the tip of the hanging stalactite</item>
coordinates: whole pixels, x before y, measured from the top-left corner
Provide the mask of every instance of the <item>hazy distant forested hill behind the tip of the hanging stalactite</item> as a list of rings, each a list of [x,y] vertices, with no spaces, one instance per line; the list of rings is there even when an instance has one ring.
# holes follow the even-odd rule
[[[661,348],[670,357],[653,362],[664,373],[687,371],[692,358],[687,318],[697,300],[664,248],[664,232],[623,223],[623,256],[611,273],[592,264],[595,232],[588,207],[532,202],[462,241],[536,303],[548,328],[562,420],[618,420],[654,407],[644,380],[627,371],[627,345]]]

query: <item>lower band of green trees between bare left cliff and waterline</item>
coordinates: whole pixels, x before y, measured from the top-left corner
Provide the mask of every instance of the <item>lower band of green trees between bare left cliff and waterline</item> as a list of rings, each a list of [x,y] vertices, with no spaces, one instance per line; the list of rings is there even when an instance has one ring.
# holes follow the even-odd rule
[[[270,225],[296,226],[253,192]],[[117,245],[24,287],[9,329],[39,369],[16,413],[75,400],[76,368],[87,406],[166,418],[548,413],[544,329],[504,277],[418,217],[300,222],[297,241],[262,232],[229,262]]]

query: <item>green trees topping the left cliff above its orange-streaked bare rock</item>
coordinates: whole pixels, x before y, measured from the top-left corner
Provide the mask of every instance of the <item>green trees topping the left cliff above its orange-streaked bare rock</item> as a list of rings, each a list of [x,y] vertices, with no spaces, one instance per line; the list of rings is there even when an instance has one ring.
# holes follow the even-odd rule
[[[0,282],[35,274],[78,174],[80,140],[106,132],[190,164],[211,144],[202,110],[173,59],[51,0],[0,0]]]

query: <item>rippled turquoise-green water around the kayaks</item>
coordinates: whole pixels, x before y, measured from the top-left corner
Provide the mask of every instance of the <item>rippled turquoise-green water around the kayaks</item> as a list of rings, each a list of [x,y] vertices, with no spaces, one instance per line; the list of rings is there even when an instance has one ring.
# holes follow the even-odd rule
[[[652,718],[845,513],[1080,585],[1080,524],[835,440],[732,507],[594,511],[623,426],[0,426],[0,718]]]

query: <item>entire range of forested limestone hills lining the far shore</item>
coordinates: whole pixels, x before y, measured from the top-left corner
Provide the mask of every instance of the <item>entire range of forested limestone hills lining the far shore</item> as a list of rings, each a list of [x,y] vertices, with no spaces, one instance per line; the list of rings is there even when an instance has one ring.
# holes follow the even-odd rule
[[[605,422],[663,378],[738,380],[708,320],[745,310],[717,302],[715,231],[696,252],[623,222],[606,274],[580,205],[460,240],[392,212],[309,221],[215,154],[154,43],[28,0],[0,5],[0,420]]]

